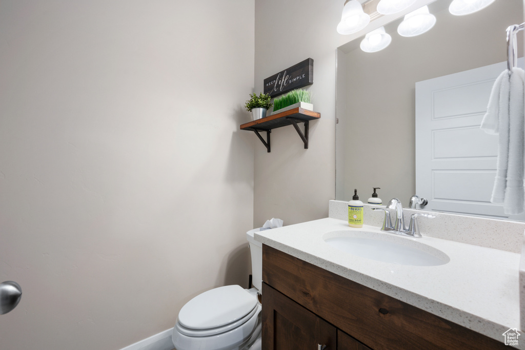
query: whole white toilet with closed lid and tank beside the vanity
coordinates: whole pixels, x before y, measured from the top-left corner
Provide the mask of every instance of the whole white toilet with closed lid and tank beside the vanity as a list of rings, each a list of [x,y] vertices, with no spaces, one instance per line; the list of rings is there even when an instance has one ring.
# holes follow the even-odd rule
[[[226,285],[195,296],[178,313],[172,340],[176,350],[260,350],[262,245],[246,232],[254,288]]]

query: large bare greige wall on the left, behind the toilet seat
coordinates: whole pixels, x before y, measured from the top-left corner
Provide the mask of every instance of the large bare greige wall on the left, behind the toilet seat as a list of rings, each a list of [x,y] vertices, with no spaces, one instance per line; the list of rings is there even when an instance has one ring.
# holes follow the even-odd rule
[[[247,287],[254,1],[0,0],[2,349],[120,349]]]

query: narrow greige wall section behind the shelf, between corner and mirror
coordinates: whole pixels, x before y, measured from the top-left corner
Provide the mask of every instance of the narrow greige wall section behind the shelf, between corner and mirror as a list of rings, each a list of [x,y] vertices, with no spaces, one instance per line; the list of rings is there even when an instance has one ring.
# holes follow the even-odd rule
[[[344,1],[255,2],[255,90],[265,78],[312,58],[313,109],[309,149],[292,126],[271,132],[271,153],[254,146],[254,226],[279,217],[285,225],[328,216],[335,196],[335,48],[345,36],[335,28]]]

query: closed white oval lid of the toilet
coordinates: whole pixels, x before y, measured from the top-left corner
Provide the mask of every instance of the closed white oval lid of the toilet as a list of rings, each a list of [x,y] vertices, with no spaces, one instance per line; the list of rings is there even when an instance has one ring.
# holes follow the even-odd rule
[[[195,296],[178,313],[187,328],[205,330],[235,322],[254,310],[257,300],[240,285],[226,285]]]

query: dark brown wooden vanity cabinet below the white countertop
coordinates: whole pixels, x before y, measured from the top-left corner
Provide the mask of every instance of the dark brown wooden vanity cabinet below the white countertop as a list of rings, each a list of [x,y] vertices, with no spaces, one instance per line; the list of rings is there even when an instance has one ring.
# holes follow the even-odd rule
[[[262,280],[265,350],[508,348],[266,245]]]

